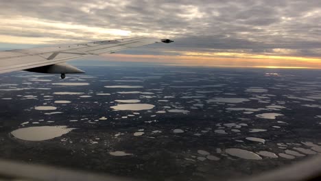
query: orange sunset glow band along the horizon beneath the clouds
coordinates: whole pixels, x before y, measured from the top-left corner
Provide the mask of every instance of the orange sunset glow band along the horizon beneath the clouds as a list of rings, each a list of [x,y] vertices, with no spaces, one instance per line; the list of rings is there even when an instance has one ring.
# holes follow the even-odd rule
[[[247,55],[242,57],[226,53],[216,53],[216,56],[203,56],[186,53],[181,56],[165,55],[129,55],[129,54],[106,54],[108,60],[121,62],[156,62],[163,65],[187,66],[187,67],[248,67],[265,69],[321,69],[321,58],[302,58],[294,56],[265,56]],[[217,55],[221,56],[217,56]],[[235,54],[235,53],[231,53]],[[238,54],[238,53],[236,53]],[[228,56],[222,56],[228,55]]]

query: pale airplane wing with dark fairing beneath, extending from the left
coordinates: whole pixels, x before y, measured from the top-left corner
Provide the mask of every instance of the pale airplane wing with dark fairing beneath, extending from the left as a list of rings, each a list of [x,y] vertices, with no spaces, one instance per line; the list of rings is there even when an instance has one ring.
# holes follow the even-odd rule
[[[64,78],[65,73],[84,73],[84,71],[76,67],[64,64],[68,60],[103,53],[115,53],[123,49],[141,47],[158,42],[171,43],[173,41],[169,39],[140,37],[0,51],[0,73],[24,70],[38,73],[60,73],[62,78]]]

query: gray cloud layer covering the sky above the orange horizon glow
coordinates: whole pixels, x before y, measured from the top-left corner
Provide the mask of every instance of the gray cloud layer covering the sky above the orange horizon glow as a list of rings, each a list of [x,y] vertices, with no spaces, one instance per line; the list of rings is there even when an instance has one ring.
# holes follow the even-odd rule
[[[123,29],[132,32],[132,35],[174,37],[176,44],[169,46],[170,49],[248,49],[257,53],[273,53],[273,49],[293,49],[294,54],[299,56],[321,56],[321,1],[1,0],[0,2],[0,17],[3,19],[21,16],[88,27]],[[64,27],[38,31],[37,29],[48,27],[23,26],[27,26],[23,27],[25,31],[8,31],[0,27],[0,34],[71,40],[97,38],[86,29],[69,29],[73,34],[64,34]]]

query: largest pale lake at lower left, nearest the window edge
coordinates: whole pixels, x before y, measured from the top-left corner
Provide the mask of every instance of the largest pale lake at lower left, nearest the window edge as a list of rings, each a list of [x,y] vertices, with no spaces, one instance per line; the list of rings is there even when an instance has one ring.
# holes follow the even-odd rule
[[[62,136],[74,130],[74,128],[67,128],[67,126],[38,126],[21,128],[14,130],[11,134],[15,138],[25,141],[45,141],[52,138]]]

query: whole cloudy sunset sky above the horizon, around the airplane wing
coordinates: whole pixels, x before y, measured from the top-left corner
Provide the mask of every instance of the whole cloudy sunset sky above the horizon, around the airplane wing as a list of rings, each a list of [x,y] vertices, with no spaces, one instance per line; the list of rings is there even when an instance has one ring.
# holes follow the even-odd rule
[[[0,0],[0,49],[146,36],[102,61],[321,69],[321,1]]]

